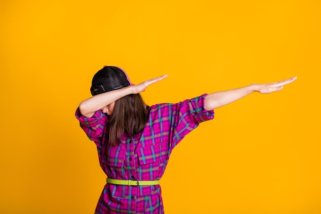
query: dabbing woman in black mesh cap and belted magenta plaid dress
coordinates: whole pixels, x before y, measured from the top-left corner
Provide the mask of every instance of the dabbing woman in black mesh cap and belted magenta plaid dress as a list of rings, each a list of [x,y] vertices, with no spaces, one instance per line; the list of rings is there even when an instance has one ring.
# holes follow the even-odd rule
[[[93,77],[92,97],[81,102],[76,118],[95,142],[107,183],[95,213],[164,213],[159,179],[172,149],[213,109],[252,92],[271,93],[296,80],[252,84],[203,94],[176,104],[145,105],[139,92],[167,75],[131,84],[126,72],[105,66]]]

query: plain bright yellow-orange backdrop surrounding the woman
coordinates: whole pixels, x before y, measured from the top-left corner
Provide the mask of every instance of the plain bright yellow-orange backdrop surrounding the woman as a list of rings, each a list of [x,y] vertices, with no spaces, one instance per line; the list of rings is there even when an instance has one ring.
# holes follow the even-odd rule
[[[0,213],[93,213],[105,175],[74,111],[104,65],[133,83],[168,74],[149,105],[298,76],[218,108],[174,149],[165,213],[321,213],[319,1],[0,8]]]

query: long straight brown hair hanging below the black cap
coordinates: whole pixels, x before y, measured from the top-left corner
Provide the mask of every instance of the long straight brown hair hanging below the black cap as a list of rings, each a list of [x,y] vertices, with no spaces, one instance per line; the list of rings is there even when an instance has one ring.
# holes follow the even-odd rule
[[[146,105],[141,94],[129,94],[115,101],[115,109],[108,120],[109,143],[119,145],[124,133],[129,136],[143,131],[148,120]]]

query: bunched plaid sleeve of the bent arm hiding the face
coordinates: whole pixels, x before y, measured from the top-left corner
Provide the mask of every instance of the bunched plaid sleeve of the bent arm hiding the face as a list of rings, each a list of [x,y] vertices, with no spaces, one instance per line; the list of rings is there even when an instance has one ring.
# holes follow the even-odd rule
[[[78,119],[81,128],[87,134],[87,137],[96,144],[100,144],[102,142],[102,136],[108,120],[107,115],[103,113],[102,110],[98,110],[91,118],[86,118],[79,111],[78,107],[75,112],[75,116]]]

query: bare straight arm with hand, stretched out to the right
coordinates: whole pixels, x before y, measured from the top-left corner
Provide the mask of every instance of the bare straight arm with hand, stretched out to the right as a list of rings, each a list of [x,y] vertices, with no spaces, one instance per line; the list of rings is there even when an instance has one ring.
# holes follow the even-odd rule
[[[242,88],[236,88],[227,91],[219,91],[208,94],[205,98],[205,109],[213,110],[215,108],[227,105],[232,103],[238,99],[243,98],[246,95],[249,95],[253,92],[260,93],[271,93],[274,91],[279,91],[283,89],[284,85],[292,83],[296,80],[296,77],[292,77],[291,79],[276,82],[276,83],[267,83],[267,84],[252,84],[249,86],[245,86]]]

